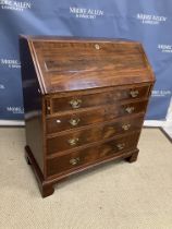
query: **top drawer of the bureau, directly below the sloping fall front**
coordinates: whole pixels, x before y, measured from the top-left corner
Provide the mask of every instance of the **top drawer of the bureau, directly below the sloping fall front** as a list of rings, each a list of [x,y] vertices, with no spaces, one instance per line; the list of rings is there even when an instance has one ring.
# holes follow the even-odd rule
[[[75,95],[62,98],[52,98],[52,113],[78,108],[103,106],[113,104],[115,100],[144,98],[148,96],[149,86],[130,87],[125,89],[114,89],[106,93]]]

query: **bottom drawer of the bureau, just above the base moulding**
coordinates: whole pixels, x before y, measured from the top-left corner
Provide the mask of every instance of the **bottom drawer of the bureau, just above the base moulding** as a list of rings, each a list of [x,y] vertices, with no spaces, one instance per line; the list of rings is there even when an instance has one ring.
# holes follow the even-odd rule
[[[138,133],[135,133],[101,145],[50,158],[47,160],[47,174],[49,177],[64,173],[67,170],[75,170],[78,167],[94,164],[101,158],[105,159],[106,157],[127,153],[136,147],[138,136]]]

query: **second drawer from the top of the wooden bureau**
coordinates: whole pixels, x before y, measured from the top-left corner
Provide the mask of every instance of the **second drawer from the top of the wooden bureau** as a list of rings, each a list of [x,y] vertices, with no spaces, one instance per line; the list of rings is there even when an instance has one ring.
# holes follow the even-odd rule
[[[60,131],[72,130],[93,123],[102,123],[118,117],[131,116],[133,113],[144,112],[146,110],[147,100],[106,106],[89,111],[79,111],[72,114],[60,114],[56,118],[47,119],[47,134]]]

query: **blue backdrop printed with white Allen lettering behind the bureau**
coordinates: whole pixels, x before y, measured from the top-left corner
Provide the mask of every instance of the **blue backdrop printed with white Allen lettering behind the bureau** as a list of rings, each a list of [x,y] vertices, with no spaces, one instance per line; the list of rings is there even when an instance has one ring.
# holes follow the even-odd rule
[[[157,79],[146,120],[165,120],[172,94],[171,28],[171,0],[0,0],[0,123],[24,123],[20,34],[140,41]]]

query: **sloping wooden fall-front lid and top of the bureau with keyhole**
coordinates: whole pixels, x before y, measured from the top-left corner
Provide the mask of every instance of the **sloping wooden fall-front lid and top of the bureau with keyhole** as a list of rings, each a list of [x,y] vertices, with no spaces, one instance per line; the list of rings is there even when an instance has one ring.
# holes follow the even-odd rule
[[[24,37],[42,94],[153,82],[139,43]]]

